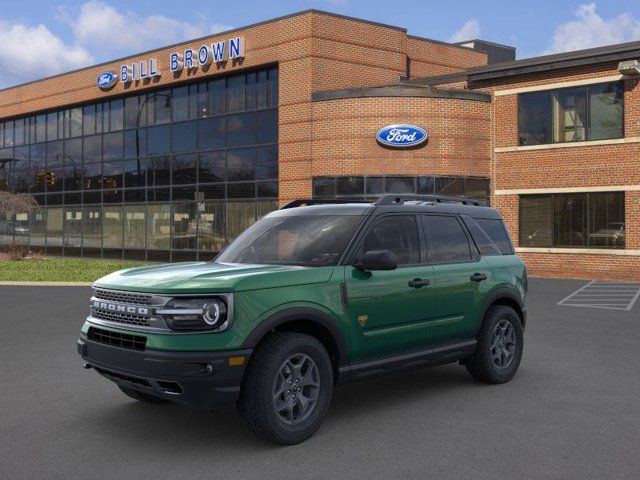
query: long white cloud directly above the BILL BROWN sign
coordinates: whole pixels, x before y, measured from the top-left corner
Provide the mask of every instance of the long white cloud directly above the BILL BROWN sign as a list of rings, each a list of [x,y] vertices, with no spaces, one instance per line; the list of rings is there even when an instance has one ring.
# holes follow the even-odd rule
[[[111,57],[202,37],[231,27],[209,24],[204,18],[183,22],[164,15],[141,17],[131,11],[118,11],[101,0],[81,5],[77,16],[60,10],[70,25],[76,42],[96,54]]]

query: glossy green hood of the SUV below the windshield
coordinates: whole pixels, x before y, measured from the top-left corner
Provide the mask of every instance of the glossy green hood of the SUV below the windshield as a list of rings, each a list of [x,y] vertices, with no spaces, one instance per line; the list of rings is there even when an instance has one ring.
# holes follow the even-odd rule
[[[189,262],[119,270],[94,286],[149,293],[239,292],[322,283],[332,272],[333,267]]]

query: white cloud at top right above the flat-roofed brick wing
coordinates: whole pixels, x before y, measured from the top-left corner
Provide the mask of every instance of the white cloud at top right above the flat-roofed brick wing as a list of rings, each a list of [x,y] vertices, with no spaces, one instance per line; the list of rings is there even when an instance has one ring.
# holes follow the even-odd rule
[[[604,19],[596,12],[596,4],[580,5],[575,20],[556,27],[543,54],[568,52],[640,39],[640,19],[630,13]]]

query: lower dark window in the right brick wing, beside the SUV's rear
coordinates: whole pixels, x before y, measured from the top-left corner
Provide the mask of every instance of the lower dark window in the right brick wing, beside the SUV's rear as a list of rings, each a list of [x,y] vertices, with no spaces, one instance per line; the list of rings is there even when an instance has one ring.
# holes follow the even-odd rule
[[[521,196],[520,245],[624,248],[624,192]]]

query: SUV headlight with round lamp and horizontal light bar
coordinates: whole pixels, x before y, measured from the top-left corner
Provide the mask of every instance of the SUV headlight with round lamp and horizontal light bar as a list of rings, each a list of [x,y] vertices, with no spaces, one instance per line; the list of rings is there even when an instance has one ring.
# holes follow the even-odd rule
[[[229,320],[222,298],[173,298],[156,313],[172,330],[223,330]]]

